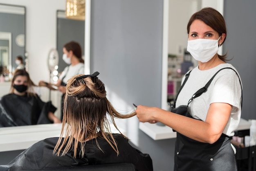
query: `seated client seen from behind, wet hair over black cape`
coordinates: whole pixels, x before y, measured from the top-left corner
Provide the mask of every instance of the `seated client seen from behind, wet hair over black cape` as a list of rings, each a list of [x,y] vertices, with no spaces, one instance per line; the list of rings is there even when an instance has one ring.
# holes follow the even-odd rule
[[[77,75],[68,80],[60,138],[37,142],[0,169],[54,170],[56,167],[125,162],[134,164],[138,171],[152,171],[148,154],[133,148],[123,134],[110,133],[107,114],[115,125],[114,118],[130,118],[136,113],[122,115],[114,109],[98,74]]]

